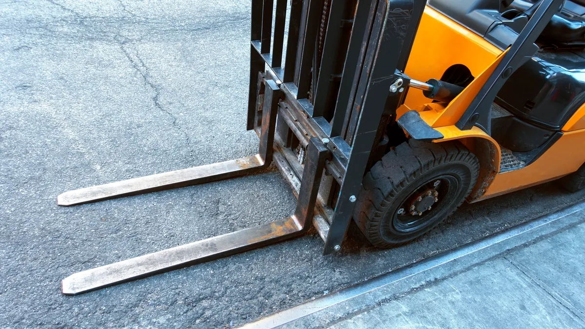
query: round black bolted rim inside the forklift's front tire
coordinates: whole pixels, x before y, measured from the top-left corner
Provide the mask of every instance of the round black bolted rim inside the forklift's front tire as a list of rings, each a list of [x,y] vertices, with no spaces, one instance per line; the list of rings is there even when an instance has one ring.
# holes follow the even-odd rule
[[[436,182],[439,182],[438,186],[435,186]],[[435,221],[436,215],[452,203],[459,189],[459,179],[450,174],[433,177],[433,179],[421,184],[402,200],[400,207],[394,212],[391,221],[393,231],[398,234],[410,234],[431,225]],[[429,198],[426,197],[428,191],[436,191],[438,194],[436,199],[438,200],[430,203]],[[425,198],[419,201],[421,196],[425,196]],[[425,207],[429,203],[431,204],[430,210]],[[412,207],[416,208],[412,209]],[[416,211],[416,214],[413,214],[412,211]],[[419,215],[419,213],[421,214]]]

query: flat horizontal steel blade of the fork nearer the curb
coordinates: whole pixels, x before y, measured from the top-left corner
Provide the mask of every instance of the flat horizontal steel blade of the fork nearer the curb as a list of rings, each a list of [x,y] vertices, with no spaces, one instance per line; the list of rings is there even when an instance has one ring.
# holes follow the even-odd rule
[[[294,216],[70,275],[61,282],[64,294],[90,292],[292,238],[304,231]]]

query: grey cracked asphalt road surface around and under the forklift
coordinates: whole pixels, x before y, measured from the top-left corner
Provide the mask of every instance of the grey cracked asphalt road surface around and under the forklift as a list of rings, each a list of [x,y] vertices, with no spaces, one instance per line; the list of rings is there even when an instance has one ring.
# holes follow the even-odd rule
[[[0,326],[222,328],[251,321],[581,200],[554,183],[464,205],[381,251],[355,227],[63,296],[60,280],[269,222],[295,205],[271,170],[104,201],[64,191],[252,155],[250,1],[0,2]]]

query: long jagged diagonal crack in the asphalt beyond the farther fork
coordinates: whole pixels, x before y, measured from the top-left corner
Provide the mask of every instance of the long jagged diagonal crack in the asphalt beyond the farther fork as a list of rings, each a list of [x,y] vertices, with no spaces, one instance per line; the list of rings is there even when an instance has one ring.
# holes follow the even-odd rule
[[[181,126],[177,123],[177,121],[178,121],[177,116],[175,116],[173,113],[168,111],[168,109],[164,108],[163,104],[161,104],[161,102],[160,102],[161,90],[160,90],[159,85],[157,85],[156,83],[154,83],[152,81],[152,76],[150,75],[149,67],[147,67],[146,64],[144,63],[144,61],[142,60],[142,58],[140,58],[137,50],[135,50],[135,54],[134,54],[134,57],[136,57],[136,60],[133,59],[133,57],[130,54],[130,52],[128,51],[128,49],[126,49],[124,47],[124,44],[128,43],[127,38],[118,34],[114,37],[114,40],[116,40],[116,42],[118,42],[118,45],[119,45],[120,49],[122,50],[122,53],[125,54],[126,58],[128,58],[128,60],[130,61],[130,64],[132,64],[132,68],[134,68],[140,74],[140,76],[142,76],[142,79],[144,81],[144,85],[149,87],[154,92],[154,96],[152,97],[154,107],[156,107],[161,112],[163,112],[164,114],[169,116],[173,120],[171,123],[173,125],[173,127],[176,128],[177,131],[180,132],[181,135],[184,136],[185,143],[187,143],[187,146],[189,148],[189,156],[192,158],[193,157],[193,143],[191,141],[191,138],[189,137],[188,133],[183,128],[181,128]]]

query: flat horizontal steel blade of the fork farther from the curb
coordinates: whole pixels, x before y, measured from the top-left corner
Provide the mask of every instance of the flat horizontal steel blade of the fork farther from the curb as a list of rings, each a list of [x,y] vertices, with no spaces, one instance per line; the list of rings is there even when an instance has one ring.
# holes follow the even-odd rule
[[[252,173],[262,169],[264,163],[261,156],[257,154],[211,165],[116,181],[115,183],[86,187],[60,194],[57,197],[57,204],[70,206],[208,183],[209,181]]]

